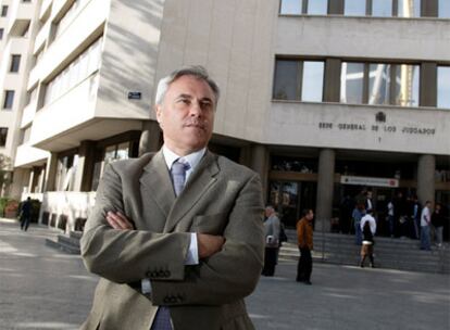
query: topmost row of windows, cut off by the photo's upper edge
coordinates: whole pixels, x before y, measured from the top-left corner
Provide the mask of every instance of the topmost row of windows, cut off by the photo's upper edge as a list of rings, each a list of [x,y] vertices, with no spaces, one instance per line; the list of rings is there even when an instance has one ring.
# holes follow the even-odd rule
[[[334,0],[282,0],[283,15],[326,15]],[[427,1],[427,0],[422,0]],[[438,0],[438,17],[450,17],[450,1]],[[345,0],[343,15],[376,17],[421,17],[421,0]]]

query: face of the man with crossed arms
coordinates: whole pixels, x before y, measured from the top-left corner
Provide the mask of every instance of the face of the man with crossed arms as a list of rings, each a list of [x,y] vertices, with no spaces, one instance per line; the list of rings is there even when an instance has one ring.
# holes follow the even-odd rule
[[[211,138],[215,96],[204,80],[182,76],[173,81],[162,104],[157,105],[157,118],[164,143],[180,156],[207,147]]]

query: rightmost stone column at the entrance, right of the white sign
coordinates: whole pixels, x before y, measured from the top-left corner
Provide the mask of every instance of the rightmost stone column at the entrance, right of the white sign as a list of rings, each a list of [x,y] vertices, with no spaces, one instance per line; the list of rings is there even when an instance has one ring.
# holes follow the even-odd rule
[[[421,155],[417,162],[417,198],[422,205],[435,201],[436,157]]]

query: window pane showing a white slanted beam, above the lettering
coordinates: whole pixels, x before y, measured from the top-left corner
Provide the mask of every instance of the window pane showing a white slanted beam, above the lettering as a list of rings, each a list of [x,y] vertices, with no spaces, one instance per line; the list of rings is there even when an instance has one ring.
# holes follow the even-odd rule
[[[389,104],[390,65],[370,64],[368,66],[368,104]]]

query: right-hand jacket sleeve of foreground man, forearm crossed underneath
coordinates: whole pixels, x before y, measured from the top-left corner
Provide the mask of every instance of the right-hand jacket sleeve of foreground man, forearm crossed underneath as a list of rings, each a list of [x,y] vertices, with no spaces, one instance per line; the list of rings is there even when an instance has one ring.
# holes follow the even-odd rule
[[[222,305],[253,292],[263,266],[262,188],[258,175],[238,192],[222,251],[187,266],[183,282],[152,281],[154,305]]]

